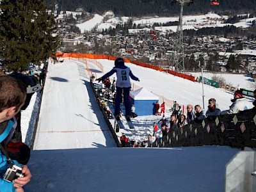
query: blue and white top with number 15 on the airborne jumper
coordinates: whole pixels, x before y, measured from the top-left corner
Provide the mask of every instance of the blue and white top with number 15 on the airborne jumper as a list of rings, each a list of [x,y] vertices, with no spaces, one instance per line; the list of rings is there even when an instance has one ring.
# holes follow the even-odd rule
[[[120,87],[120,88],[128,88],[131,87],[131,82],[130,82],[130,78],[129,76],[135,80],[138,81],[138,77],[135,77],[132,74],[132,71],[129,67],[125,66],[125,65],[116,65],[115,67],[112,68],[111,71],[109,71],[108,73],[106,73],[104,76],[102,76],[102,80],[112,76],[113,74],[116,73],[116,87]]]

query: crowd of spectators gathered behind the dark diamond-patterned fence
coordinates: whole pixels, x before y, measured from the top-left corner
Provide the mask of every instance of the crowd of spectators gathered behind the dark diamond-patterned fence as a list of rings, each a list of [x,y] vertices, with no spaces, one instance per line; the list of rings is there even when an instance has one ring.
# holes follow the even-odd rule
[[[113,83],[115,83],[115,79]],[[104,87],[106,87],[108,83],[104,84]],[[109,84],[108,87],[111,87],[111,84]],[[106,90],[109,90],[109,92],[111,92],[112,89],[107,88]],[[104,90],[104,92],[106,92],[106,90]],[[111,93],[113,94],[113,92]],[[253,93],[256,99],[256,90]],[[100,93],[100,95],[106,95],[106,93]],[[230,106],[230,109],[221,111],[218,104],[216,103],[216,99],[211,98],[208,100],[207,109],[203,109],[199,104],[196,104],[195,106],[193,106],[192,104],[188,104],[186,106],[187,111],[186,113],[184,113],[181,106],[177,103],[177,101],[175,101],[173,103],[173,107],[168,110],[171,114],[170,117],[166,117],[165,102],[159,104],[159,102],[157,101],[156,104],[154,104],[154,115],[161,116],[161,118],[158,122],[154,122],[152,126],[152,134],[148,134],[148,139],[145,141],[130,141],[125,136],[125,134],[122,134],[122,136],[120,137],[120,143],[122,147],[150,147],[153,141],[161,140],[161,138],[163,136],[166,136],[168,132],[177,131],[180,127],[184,125],[191,124],[193,122],[200,123],[205,118],[213,119],[215,116],[218,115],[239,113],[239,111],[249,109],[248,106],[250,106],[248,101],[243,97],[243,90],[236,90],[236,92],[234,93],[234,99],[232,99],[231,102],[232,105]],[[253,110],[256,111],[256,101],[253,102],[253,105]],[[106,113],[108,114],[108,116],[110,116],[111,112],[108,109],[106,103],[102,104],[102,106],[104,106],[104,109],[106,109]],[[135,108],[135,106],[133,107]]]

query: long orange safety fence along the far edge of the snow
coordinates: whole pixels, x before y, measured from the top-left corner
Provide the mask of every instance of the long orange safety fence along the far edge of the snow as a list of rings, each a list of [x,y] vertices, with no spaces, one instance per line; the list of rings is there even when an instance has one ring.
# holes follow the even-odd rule
[[[93,59],[93,60],[102,60],[102,59],[115,60],[116,59],[113,56],[108,56],[108,55],[105,55],[105,54],[86,54],[86,53],[74,53],[74,52],[70,52],[70,53],[56,52],[54,54],[54,57],[61,57],[61,58],[87,58],[87,59]],[[195,82],[195,77],[194,76],[189,76],[187,74],[182,74],[182,73],[179,73],[179,72],[175,72],[173,70],[166,70],[164,68],[157,67],[155,65],[150,65],[148,63],[142,63],[140,61],[131,61],[131,60],[127,60],[125,58],[124,58],[124,61],[126,63],[133,63],[134,65],[138,65],[138,66],[141,66],[141,67],[152,68],[154,70],[159,70],[159,71],[166,71],[168,74],[172,74],[173,76],[182,77],[184,79],[188,79],[189,81]]]

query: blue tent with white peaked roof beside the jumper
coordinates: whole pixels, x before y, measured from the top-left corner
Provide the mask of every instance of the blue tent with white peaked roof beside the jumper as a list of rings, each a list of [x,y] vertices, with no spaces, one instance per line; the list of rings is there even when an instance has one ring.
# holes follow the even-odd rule
[[[154,115],[154,109],[159,97],[149,92],[146,88],[130,92],[130,97],[131,104],[134,104],[137,115]]]

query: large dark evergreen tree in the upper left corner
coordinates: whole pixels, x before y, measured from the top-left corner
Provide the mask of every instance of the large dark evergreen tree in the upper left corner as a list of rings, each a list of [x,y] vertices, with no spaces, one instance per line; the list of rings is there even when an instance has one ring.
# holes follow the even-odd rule
[[[59,45],[54,15],[44,0],[2,0],[0,58],[9,70],[22,71],[52,56]]]

